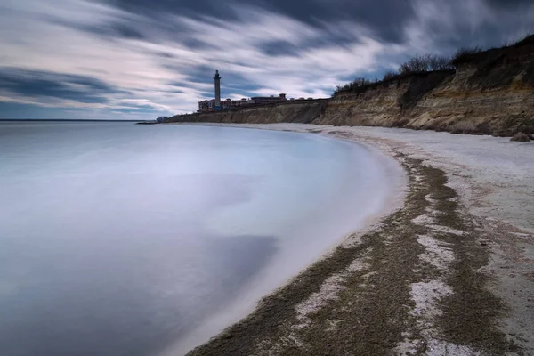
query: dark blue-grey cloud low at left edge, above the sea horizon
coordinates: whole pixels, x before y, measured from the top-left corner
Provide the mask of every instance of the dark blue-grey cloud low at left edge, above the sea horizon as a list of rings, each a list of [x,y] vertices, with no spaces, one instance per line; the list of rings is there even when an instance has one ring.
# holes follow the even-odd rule
[[[0,90],[26,98],[49,97],[83,103],[108,102],[108,94],[125,93],[93,77],[38,70],[0,69]]]

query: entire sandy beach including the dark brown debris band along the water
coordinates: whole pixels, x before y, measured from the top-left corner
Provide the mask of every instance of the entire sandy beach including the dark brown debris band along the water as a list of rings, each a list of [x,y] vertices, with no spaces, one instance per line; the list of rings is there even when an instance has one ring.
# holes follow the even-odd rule
[[[365,142],[405,205],[192,355],[534,355],[534,143],[373,127],[239,125]]]

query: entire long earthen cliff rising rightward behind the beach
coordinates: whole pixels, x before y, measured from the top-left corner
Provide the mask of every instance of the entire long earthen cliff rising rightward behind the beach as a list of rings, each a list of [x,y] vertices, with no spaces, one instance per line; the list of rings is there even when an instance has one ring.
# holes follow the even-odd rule
[[[534,36],[458,56],[456,70],[394,77],[330,100],[287,101],[171,117],[216,123],[311,123],[431,129],[460,134],[534,134]]]

